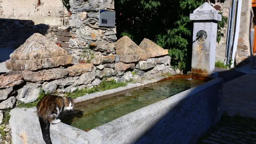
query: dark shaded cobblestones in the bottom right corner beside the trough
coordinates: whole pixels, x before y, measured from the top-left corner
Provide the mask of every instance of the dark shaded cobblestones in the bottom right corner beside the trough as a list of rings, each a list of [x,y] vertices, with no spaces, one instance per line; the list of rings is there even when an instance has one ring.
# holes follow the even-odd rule
[[[256,119],[224,114],[197,144],[256,144]]]

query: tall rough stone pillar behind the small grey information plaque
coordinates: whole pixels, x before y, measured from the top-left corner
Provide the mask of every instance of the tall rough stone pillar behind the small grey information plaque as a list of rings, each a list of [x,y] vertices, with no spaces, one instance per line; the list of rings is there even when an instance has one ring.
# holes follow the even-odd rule
[[[73,35],[69,46],[75,53],[74,62],[78,62],[83,49],[94,49],[103,55],[115,54],[109,43],[117,40],[116,28],[99,27],[99,9],[114,9],[114,0],[70,0],[69,3],[72,12],[69,26]]]

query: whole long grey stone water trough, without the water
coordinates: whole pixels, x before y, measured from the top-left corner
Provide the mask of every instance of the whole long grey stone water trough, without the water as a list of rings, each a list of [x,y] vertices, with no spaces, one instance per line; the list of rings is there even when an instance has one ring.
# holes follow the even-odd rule
[[[85,95],[76,99],[76,102],[159,80],[161,79],[147,80]],[[212,78],[204,84],[140,108],[88,132],[64,123],[51,125],[52,142],[53,144],[193,144],[220,120],[222,87],[221,78]],[[36,108],[15,108],[10,114],[14,144],[44,144]]]

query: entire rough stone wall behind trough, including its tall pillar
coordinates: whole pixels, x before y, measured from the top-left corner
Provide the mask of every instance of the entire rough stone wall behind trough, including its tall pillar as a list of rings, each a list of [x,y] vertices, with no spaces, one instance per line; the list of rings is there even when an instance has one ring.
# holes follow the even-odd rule
[[[0,75],[0,114],[17,101],[33,102],[41,89],[47,93],[92,88],[103,79],[127,82],[172,75],[168,51],[144,39],[140,45],[128,36],[116,41],[116,28],[98,26],[98,8],[114,8],[114,1],[70,0],[70,27],[52,26],[45,34],[34,33],[6,60],[9,73]],[[76,5],[76,7],[74,7]],[[55,41],[60,31],[69,31],[71,48]],[[1,119],[1,116],[0,116]]]

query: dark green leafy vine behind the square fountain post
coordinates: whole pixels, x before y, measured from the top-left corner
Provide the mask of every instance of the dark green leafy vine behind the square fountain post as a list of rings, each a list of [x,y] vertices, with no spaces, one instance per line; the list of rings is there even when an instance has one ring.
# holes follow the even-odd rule
[[[209,2],[224,2],[210,0]],[[168,49],[173,68],[190,69],[193,22],[189,14],[205,0],[120,0],[115,1],[118,38],[130,37],[140,44],[148,38]],[[222,13],[220,13],[222,14]],[[224,36],[227,18],[218,22],[217,41]]]

